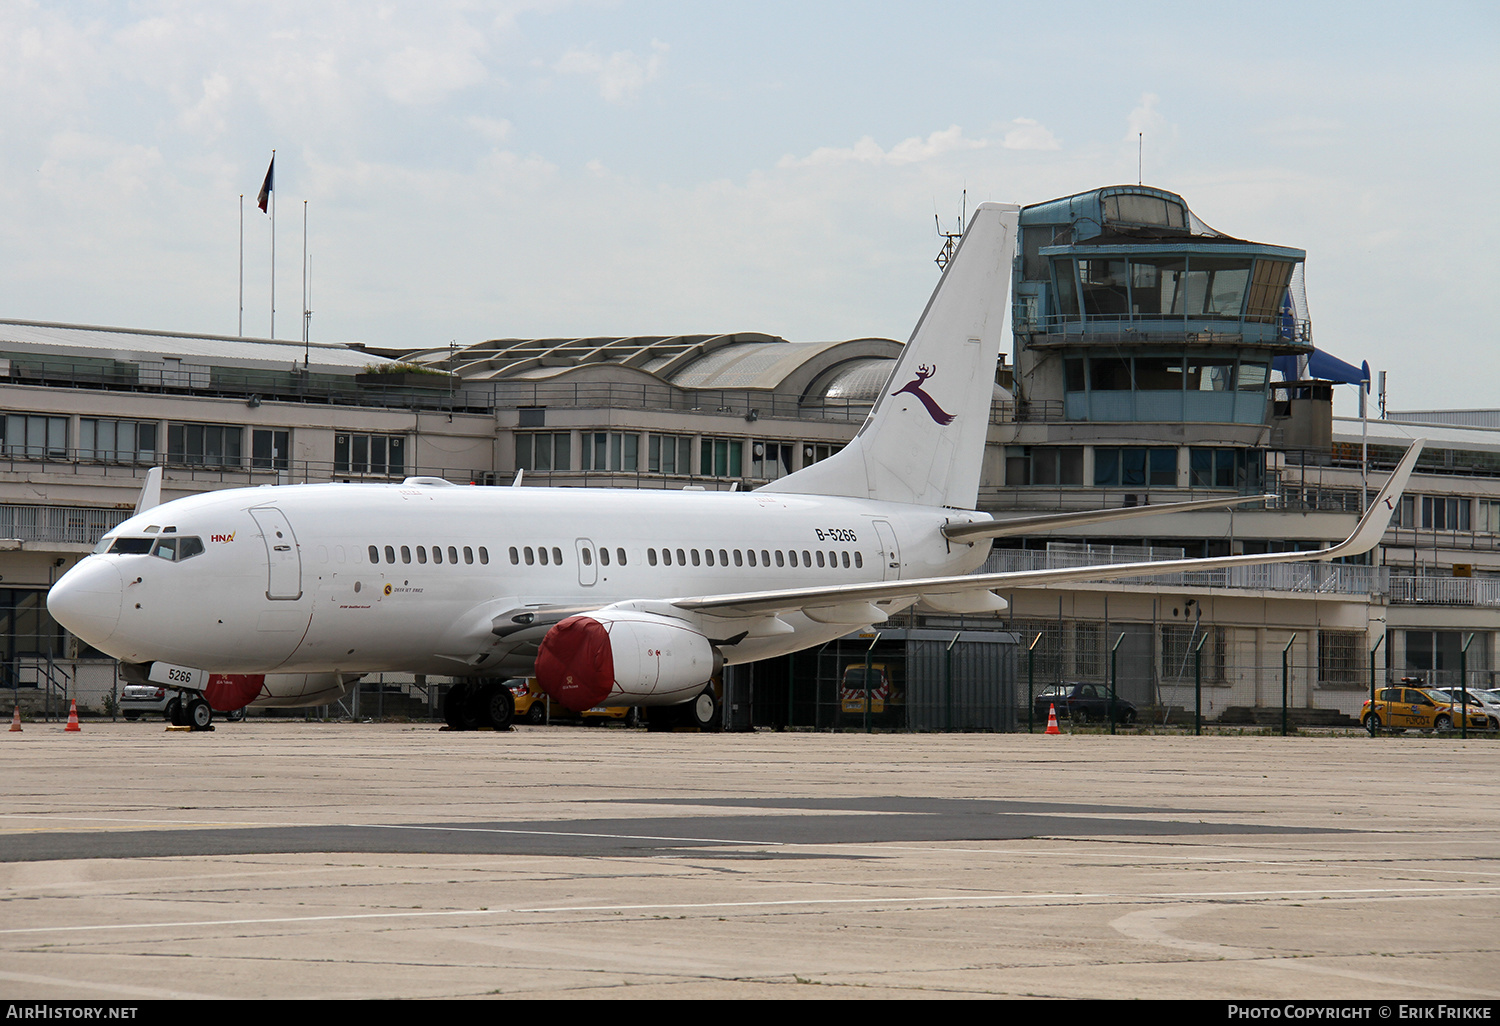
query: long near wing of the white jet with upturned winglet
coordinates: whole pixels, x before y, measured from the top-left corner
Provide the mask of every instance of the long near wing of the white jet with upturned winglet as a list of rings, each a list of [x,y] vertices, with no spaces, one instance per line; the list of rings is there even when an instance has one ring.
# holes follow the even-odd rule
[[[1306,560],[1334,560],[1359,555],[1380,543],[1396,500],[1406,490],[1416,459],[1425,440],[1418,440],[1401,458],[1384,488],[1376,495],[1354,532],[1338,544],[1312,552],[1274,552],[1238,556],[1209,556],[1198,560],[1164,560],[1158,562],[1114,562],[1092,567],[1064,567],[1056,570],[1017,570],[1010,573],[984,573],[966,578],[926,578],[914,580],[882,580],[874,584],[834,585],[828,588],[788,588],[780,591],[747,591],[740,594],[698,596],[675,598],[672,606],[686,612],[723,618],[774,616],[777,614],[801,612],[819,622],[870,624],[888,615],[876,603],[910,604],[924,602],[938,609],[978,612],[986,608],[1000,609],[996,590],[1036,588],[1074,580],[1113,580],[1119,578],[1144,578],[1158,573],[1184,573],[1192,570],[1216,570],[1220,567],[1250,567],[1268,562],[1302,562]],[[1166,507],[1149,507],[1156,512]],[[986,596],[988,592],[988,596]]]

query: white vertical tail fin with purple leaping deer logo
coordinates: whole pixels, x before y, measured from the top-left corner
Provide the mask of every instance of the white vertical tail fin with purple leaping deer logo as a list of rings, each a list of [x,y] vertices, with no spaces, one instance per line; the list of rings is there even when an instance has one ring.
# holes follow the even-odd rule
[[[974,212],[860,434],[762,490],[974,508],[1018,220],[1014,204]]]

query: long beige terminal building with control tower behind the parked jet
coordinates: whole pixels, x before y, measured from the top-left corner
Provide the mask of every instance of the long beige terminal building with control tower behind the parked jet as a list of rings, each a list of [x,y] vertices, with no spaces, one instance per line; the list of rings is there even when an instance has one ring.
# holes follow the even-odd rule
[[[838,678],[855,662],[891,668],[914,712],[892,700],[884,723],[909,728],[1004,729],[1029,680],[1112,674],[1152,716],[1191,708],[1200,682],[1209,718],[1244,720],[1280,706],[1284,654],[1292,705],[1308,718],[1358,714],[1372,678],[1456,682],[1462,663],[1488,686],[1500,414],[1335,418],[1334,390],[1359,386],[1338,384],[1352,375],[1330,374],[1344,364],[1312,344],[1305,260],[1302,249],[1215,231],[1152,188],[1024,207],[1014,344],[996,368],[980,507],[1005,518],[1276,500],[1137,519],[1128,536],[1006,538],[987,568],[1322,548],[1348,534],[1407,441],[1425,436],[1378,549],[1360,562],[1017,590],[999,616],[904,616],[746,670],[756,686],[740,722],[840,722]],[[129,516],[153,465],[165,466],[164,498],[408,476],[484,488],[747,489],[837,452],[900,345],[747,332],[378,350],[0,321],[3,682],[16,694],[108,705],[112,660],[68,638],[45,592]],[[932,656],[952,638],[1010,645],[1000,670],[974,654],[990,648],[970,651],[974,666],[990,668],[974,674],[1016,688],[1005,711],[952,714],[952,662]],[[918,717],[918,694],[936,700],[928,686],[939,676],[944,716]],[[998,700],[986,694],[962,702]]]

